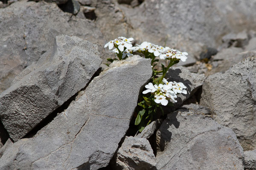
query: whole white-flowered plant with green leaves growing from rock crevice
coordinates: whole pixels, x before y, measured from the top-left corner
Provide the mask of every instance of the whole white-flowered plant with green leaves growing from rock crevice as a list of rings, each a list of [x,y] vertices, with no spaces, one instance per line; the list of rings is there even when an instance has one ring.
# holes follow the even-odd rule
[[[141,132],[146,125],[153,121],[154,114],[157,113],[158,108],[163,113],[162,105],[173,105],[172,102],[177,102],[175,100],[177,94],[187,94],[186,86],[182,82],[168,82],[164,77],[170,67],[177,64],[180,60],[185,62],[188,53],[154,45],[150,42],[142,42],[140,45],[136,44],[136,46],[133,46],[131,43],[133,40],[133,38],[118,37],[108,42],[104,47],[108,47],[110,50],[115,47],[112,51],[116,54],[117,58],[108,58],[109,62],[126,59],[133,55],[134,52],[143,54],[145,58],[151,59],[152,77],[149,83],[145,85],[145,91],[139,95],[138,105],[135,109],[135,113],[137,113],[135,125],[138,125]],[[169,60],[167,67],[162,64],[161,70],[157,70],[155,68],[159,62],[157,57]]]

